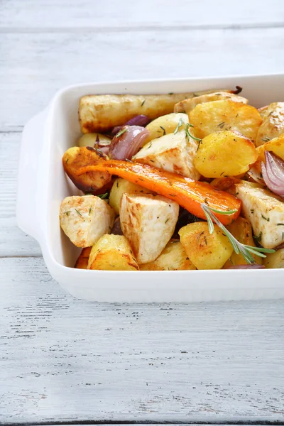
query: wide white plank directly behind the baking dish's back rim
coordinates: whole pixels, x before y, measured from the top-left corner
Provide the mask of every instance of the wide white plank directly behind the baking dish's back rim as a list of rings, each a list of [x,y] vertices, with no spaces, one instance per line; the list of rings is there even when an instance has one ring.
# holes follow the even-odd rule
[[[0,130],[78,82],[261,74],[284,68],[284,29],[2,34]]]

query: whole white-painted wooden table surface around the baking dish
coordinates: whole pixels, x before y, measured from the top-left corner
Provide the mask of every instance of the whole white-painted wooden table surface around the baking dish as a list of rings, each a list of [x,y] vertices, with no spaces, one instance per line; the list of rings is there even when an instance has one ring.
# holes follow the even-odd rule
[[[283,302],[75,300],[15,221],[23,125],[60,87],[283,70],[283,0],[0,1],[1,423],[284,422]]]

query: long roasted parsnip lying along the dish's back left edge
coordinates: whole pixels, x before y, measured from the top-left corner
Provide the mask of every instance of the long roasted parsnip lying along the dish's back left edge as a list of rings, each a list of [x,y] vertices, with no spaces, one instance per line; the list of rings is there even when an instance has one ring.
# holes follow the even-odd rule
[[[177,102],[212,90],[168,94],[91,94],[80,99],[79,120],[82,133],[106,132],[144,114],[153,120],[170,114]]]

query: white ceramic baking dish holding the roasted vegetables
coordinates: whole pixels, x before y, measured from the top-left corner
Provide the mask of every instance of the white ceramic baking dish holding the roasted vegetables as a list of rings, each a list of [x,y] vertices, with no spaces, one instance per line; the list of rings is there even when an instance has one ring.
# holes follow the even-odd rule
[[[234,89],[256,107],[284,101],[284,74],[91,83],[60,90],[23,130],[18,172],[18,226],[35,238],[46,266],[75,297],[99,302],[201,302],[284,297],[284,269],[224,271],[87,271],[74,269],[80,250],[60,231],[58,209],[80,192],[62,168],[62,155],[80,136],[77,109],[85,94],[151,94]]]

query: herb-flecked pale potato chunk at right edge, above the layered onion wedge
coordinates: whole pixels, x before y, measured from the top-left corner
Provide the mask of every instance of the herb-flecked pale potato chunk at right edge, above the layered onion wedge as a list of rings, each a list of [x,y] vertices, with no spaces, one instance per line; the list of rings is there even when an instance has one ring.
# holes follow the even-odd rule
[[[256,146],[278,138],[284,133],[284,102],[274,102],[261,111],[263,122],[258,129]]]

